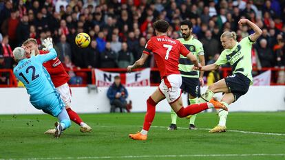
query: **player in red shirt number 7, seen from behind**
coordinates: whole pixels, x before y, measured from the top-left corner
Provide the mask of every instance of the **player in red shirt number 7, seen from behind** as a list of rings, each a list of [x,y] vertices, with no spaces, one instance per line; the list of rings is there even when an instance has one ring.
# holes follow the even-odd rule
[[[183,107],[180,89],[182,78],[180,76],[180,71],[178,71],[179,56],[182,54],[189,58],[196,68],[200,68],[201,65],[198,63],[196,57],[193,56],[180,41],[173,40],[167,36],[168,28],[169,23],[167,23],[167,21],[156,21],[154,23],[156,36],[152,37],[147,42],[141,58],[137,60],[134,65],[127,67],[127,71],[132,71],[133,69],[141,67],[145,60],[147,60],[149,54],[153,52],[161,77],[161,83],[158,89],[156,89],[147,100],[147,113],[145,114],[143,128],[136,134],[129,134],[131,139],[147,140],[147,132],[149,131],[156,113],[156,104],[165,98],[179,117],[194,115],[208,108],[224,108],[227,110],[223,104],[215,99],[211,99],[207,103],[192,104],[185,108]]]

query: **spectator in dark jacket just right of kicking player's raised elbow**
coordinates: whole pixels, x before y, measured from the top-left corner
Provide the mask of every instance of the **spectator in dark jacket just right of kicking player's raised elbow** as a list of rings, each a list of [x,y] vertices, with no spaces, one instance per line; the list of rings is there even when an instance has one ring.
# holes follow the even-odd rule
[[[260,47],[257,47],[257,54],[262,67],[271,67],[273,65],[273,51],[267,46],[266,39],[260,40]]]

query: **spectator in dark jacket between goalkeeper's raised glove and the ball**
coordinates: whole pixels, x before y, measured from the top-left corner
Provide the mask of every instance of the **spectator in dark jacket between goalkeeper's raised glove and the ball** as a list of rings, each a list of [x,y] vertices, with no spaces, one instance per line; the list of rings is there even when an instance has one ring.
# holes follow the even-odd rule
[[[68,58],[71,58],[72,53],[70,49],[70,44],[66,42],[66,36],[65,34],[61,34],[61,41],[56,44],[57,47],[57,54],[59,56],[59,60],[63,62],[65,60],[65,56],[68,56]]]

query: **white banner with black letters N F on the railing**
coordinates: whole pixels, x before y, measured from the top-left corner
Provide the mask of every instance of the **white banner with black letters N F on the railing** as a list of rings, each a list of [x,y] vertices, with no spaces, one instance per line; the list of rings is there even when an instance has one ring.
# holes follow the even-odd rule
[[[121,83],[125,87],[146,87],[150,86],[150,68],[134,71],[131,73],[113,73],[107,71],[95,70],[96,85],[98,87],[109,87],[114,82],[115,76],[120,76]]]

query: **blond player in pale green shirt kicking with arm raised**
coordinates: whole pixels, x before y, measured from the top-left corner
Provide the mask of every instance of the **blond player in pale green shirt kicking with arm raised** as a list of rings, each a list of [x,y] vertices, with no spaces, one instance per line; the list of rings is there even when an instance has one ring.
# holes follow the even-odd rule
[[[211,84],[207,91],[201,95],[198,102],[208,102],[215,93],[223,92],[224,95],[221,102],[228,107],[229,104],[235,102],[240,96],[249,91],[249,86],[253,83],[253,76],[251,75],[251,46],[262,35],[262,30],[247,19],[241,19],[238,24],[249,25],[254,33],[237,42],[235,32],[224,32],[221,36],[224,51],[214,64],[200,68],[200,71],[211,71],[229,62],[233,75]],[[218,115],[220,117],[219,124],[210,130],[210,133],[226,132],[228,111],[220,109]]]

